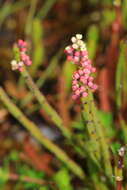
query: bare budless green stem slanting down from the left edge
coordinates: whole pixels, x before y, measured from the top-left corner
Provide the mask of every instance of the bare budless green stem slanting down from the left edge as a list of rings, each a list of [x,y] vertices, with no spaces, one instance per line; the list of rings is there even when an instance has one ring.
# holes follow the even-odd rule
[[[0,87],[0,99],[8,108],[8,111],[35,137],[45,148],[52,152],[58,159],[64,162],[67,167],[78,177],[84,178],[83,170],[58,146],[47,139],[38,129],[38,127],[11,102],[6,92]]]

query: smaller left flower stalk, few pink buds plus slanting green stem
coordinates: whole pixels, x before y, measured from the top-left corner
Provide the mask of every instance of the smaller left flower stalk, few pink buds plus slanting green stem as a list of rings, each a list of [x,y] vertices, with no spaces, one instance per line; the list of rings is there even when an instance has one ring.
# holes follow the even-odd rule
[[[70,139],[71,138],[70,130],[64,126],[62,119],[47,102],[46,98],[44,97],[42,92],[40,92],[37,85],[34,83],[34,81],[32,80],[31,76],[29,75],[26,69],[27,66],[30,66],[32,64],[32,61],[27,55],[27,49],[28,49],[28,44],[23,40],[19,40],[18,43],[15,44],[14,46],[15,60],[11,62],[12,70],[18,70],[21,73],[21,75],[25,79],[28,88],[35,96],[41,108],[46,112],[51,121],[62,131],[62,134],[66,136],[68,139]]]

